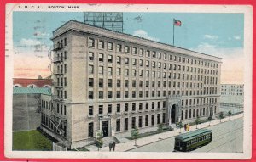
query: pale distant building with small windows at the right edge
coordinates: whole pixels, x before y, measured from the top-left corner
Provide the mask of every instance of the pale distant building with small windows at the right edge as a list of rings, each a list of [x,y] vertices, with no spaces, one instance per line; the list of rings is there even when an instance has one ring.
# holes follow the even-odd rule
[[[222,84],[220,104],[224,107],[243,108],[244,85],[243,84]]]

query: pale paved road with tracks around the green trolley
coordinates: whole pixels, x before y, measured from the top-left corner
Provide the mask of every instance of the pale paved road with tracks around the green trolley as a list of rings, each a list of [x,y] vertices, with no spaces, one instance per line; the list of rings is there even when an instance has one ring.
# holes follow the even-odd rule
[[[204,147],[197,148],[193,152],[218,152],[237,153],[242,152],[243,120],[230,120],[216,126],[210,126],[212,130],[212,142]],[[131,152],[172,152],[174,138],[170,137],[158,142],[130,150]]]

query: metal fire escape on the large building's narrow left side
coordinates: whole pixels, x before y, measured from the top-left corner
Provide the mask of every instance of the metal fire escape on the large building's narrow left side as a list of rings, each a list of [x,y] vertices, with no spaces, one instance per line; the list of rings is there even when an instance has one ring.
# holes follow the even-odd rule
[[[62,102],[63,98],[60,94],[56,94],[57,89],[61,90],[63,88],[63,83],[60,84],[60,82],[57,82],[57,77],[63,75],[63,70],[57,68],[57,64],[61,64],[63,58],[60,55],[56,56],[56,52],[60,51],[62,48],[62,43],[58,43],[55,44],[53,49],[51,48],[48,52],[48,57],[51,59],[51,64],[49,64],[48,68],[51,71],[51,79],[53,81],[49,120],[54,126],[54,131],[61,135],[61,137],[65,137],[65,130],[63,129],[63,126],[67,123],[67,119],[60,114],[61,108],[57,108],[57,103]],[[53,56],[52,51],[54,52]]]

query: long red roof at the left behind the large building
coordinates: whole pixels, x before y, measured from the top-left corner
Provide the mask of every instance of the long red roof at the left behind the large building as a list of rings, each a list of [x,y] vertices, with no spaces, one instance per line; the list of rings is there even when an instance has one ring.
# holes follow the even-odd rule
[[[14,86],[27,87],[34,85],[36,87],[51,86],[50,79],[27,79],[27,78],[14,78]]]

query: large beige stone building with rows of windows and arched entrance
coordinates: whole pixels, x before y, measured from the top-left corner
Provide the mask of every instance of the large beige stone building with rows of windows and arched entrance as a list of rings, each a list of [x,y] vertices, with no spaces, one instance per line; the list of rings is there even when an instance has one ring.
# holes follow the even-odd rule
[[[218,113],[221,59],[74,20],[53,32],[42,128],[68,147]],[[212,111],[211,111],[212,110]]]

